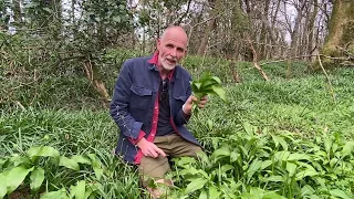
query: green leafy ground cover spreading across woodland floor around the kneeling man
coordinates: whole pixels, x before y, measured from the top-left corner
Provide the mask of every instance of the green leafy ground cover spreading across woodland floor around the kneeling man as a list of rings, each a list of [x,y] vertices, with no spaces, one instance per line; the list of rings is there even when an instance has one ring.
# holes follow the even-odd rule
[[[188,127],[206,155],[175,160],[169,198],[353,198],[354,71],[330,72],[331,93],[326,78],[304,74],[303,65],[292,80],[281,64],[264,70],[270,82],[244,63],[241,84],[219,71],[230,104],[211,96],[194,115]],[[140,198],[135,168],[112,155],[117,128],[108,111],[73,106],[87,87],[51,81],[63,86],[39,84],[35,107],[2,106],[0,198]]]

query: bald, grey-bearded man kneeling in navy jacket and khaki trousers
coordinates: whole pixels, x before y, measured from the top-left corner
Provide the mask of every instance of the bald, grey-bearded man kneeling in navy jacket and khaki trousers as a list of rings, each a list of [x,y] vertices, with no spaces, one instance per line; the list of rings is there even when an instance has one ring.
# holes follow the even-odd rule
[[[180,27],[169,27],[157,41],[152,57],[127,60],[117,78],[111,115],[121,129],[115,149],[128,163],[137,164],[143,175],[156,182],[169,184],[168,158],[196,156],[200,145],[184,126],[190,118],[192,102],[189,73],[177,63],[186,55],[187,34]],[[148,188],[158,197],[158,191]]]

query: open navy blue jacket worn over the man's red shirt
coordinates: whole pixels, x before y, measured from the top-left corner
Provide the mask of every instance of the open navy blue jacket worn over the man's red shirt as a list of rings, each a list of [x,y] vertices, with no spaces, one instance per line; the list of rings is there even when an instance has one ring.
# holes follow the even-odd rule
[[[157,55],[127,60],[121,70],[115,84],[111,103],[111,116],[119,127],[119,138],[115,149],[128,163],[139,164],[139,148],[131,142],[145,133],[145,138],[153,142],[153,123],[156,121],[156,100],[160,84],[160,74],[156,64],[152,62]],[[169,104],[171,124],[177,134],[186,140],[199,145],[197,139],[184,126],[188,118],[181,106],[191,94],[190,74],[180,65],[175,67],[169,84]],[[157,108],[158,109],[158,108]],[[158,115],[158,113],[157,113]],[[153,119],[153,117],[155,117]],[[131,139],[131,140],[129,140]],[[139,157],[140,158],[140,157]]]

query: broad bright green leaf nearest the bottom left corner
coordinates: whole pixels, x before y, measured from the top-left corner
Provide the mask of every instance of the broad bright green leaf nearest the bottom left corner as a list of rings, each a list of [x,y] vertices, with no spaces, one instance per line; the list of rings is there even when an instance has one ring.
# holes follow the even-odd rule
[[[23,166],[14,167],[13,169],[11,169],[7,176],[8,195],[14,191],[22,184],[27,175],[33,169],[34,167],[28,169]]]

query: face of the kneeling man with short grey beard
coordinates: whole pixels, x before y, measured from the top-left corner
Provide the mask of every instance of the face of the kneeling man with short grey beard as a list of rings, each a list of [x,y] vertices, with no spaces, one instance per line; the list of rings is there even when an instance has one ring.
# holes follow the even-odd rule
[[[171,71],[185,56],[187,36],[181,31],[169,31],[157,41],[159,66],[166,71]]]

